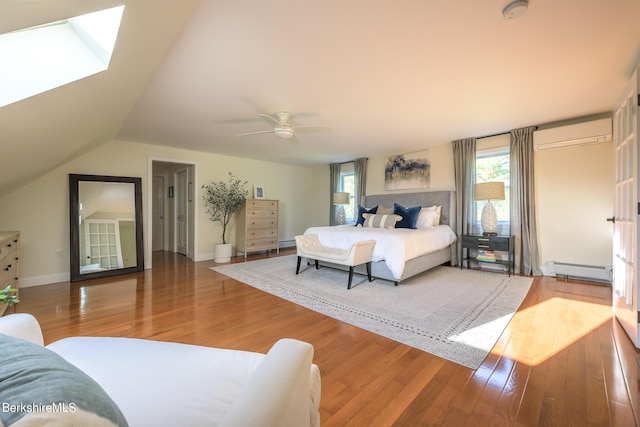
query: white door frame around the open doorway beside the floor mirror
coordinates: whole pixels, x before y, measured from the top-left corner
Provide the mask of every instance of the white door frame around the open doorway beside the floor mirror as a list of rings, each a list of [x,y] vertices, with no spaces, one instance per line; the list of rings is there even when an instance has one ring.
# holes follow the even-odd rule
[[[146,221],[144,224],[144,234],[148,236],[144,241],[144,257],[145,257],[145,269],[149,269],[153,267],[152,261],[152,236],[153,236],[153,212],[151,206],[153,206],[153,163],[154,162],[163,162],[163,163],[173,163],[176,165],[184,165],[186,167],[192,167],[193,176],[189,177],[192,179],[192,188],[195,190],[199,188],[198,186],[198,162],[191,160],[182,160],[182,159],[171,159],[166,157],[148,157],[147,158],[147,209],[146,209]],[[200,261],[200,250],[198,249],[198,212],[199,212],[200,200],[195,195],[193,196],[193,200],[191,201],[191,208],[193,209],[193,224],[192,227],[189,227],[188,231],[188,239],[193,242],[193,260]]]

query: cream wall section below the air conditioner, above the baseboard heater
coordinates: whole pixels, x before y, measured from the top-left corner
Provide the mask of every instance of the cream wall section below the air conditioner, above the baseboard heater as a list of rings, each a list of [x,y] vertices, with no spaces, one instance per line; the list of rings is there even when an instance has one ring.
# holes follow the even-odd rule
[[[543,273],[555,273],[553,261],[610,266],[612,143],[536,151],[535,175]]]

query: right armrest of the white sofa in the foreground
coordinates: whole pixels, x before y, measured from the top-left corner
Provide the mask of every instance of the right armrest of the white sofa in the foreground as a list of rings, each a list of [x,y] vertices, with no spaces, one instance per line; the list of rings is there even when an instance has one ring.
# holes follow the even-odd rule
[[[311,344],[281,339],[269,350],[219,426],[309,426]]]

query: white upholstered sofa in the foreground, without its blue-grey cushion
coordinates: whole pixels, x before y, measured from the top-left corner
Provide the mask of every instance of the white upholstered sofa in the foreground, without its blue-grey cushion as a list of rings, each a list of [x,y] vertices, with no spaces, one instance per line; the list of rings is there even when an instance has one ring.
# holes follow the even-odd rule
[[[14,348],[23,340],[43,345],[40,326],[28,314],[0,318],[0,334],[21,338],[2,337],[20,341]],[[11,347],[6,342],[5,353]],[[20,351],[46,351],[24,344]],[[107,337],[65,338],[46,349],[95,380],[129,426],[320,425],[320,371],[312,364],[313,347],[302,341],[282,339],[266,355]],[[0,375],[0,400],[11,392],[5,377]]]

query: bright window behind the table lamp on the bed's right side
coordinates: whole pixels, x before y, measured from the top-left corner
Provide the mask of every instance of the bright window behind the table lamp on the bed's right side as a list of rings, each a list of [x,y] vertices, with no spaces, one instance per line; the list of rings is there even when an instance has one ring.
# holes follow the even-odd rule
[[[505,200],[492,200],[498,215],[498,234],[508,235],[510,207],[509,149],[480,149],[476,153],[476,182],[504,182]],[[486,201],[476,202],[476,230],[481,231],[480,218]]]

